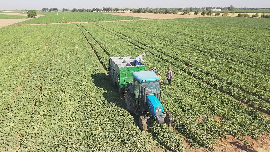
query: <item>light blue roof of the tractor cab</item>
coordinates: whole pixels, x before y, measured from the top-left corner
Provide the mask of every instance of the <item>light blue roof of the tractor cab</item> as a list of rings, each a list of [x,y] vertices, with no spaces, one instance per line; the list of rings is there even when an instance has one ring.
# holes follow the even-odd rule
[[[152,71],[134,72],[132,73],[132,76],[139,82],[160,80],[159,77]]]

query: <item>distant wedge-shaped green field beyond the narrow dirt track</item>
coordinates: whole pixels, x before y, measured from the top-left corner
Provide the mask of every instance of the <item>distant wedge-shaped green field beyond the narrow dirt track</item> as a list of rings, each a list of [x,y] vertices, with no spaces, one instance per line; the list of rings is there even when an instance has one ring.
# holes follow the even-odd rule
[[[36,19],[19,22],[17,24],[41,24],[41,23],[68,23],[68,22],[94,22],[94,21],[112,21],[112,20],[130,20],[143,19],[139,17],[118,16],[93,12],[38,12],[44,14]]]

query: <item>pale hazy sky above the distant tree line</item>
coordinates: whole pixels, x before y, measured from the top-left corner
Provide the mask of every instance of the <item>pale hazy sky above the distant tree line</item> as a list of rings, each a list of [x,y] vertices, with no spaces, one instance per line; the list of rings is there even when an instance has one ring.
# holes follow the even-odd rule
[[[42,8],[184,8],[184,7],[229,7],[269,8],[270,0],[0,0],[0,10],[21,10]]]

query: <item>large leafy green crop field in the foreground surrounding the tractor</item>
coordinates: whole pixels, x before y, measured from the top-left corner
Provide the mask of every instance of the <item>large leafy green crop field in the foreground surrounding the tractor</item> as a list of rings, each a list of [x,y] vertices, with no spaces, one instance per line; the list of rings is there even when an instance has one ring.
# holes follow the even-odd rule
[[[248,146],[270,133],[269,25],[211,17],[0,28],[0,151],[185,151],[185,142],[212,151],[228,135]],[[142,52],[163,79],[173,69],[173,86],[161,84],[173,127],[147,121],[141,132],[110,84],[109,57]]]

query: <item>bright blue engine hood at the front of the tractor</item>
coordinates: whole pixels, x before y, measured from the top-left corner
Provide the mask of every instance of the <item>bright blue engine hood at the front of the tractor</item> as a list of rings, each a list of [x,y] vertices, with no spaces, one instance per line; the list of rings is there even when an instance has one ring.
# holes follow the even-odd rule
[[[162,115],[162,112],[163,112],[162,104],[154,94],[147,95],[146,96],[146,102],[147,102],[147,104],[149,106],[150,113],[153,116]]]

